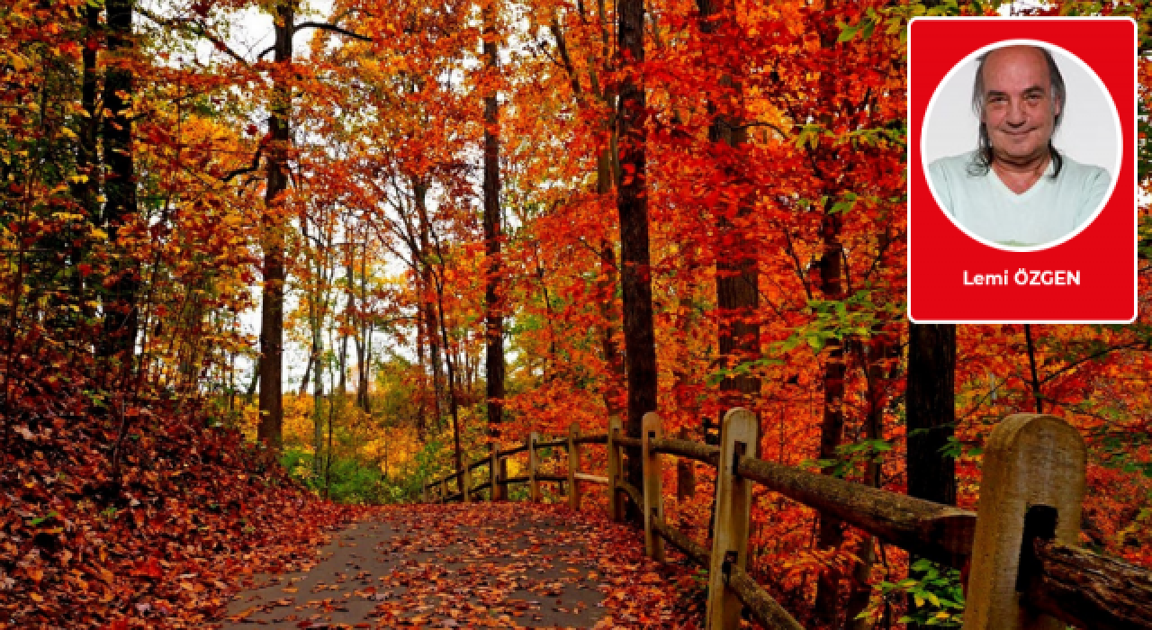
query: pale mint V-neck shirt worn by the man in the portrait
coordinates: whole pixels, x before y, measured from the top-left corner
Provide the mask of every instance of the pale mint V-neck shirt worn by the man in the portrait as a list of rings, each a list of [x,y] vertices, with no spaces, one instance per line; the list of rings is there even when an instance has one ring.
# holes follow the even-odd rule
[[[992,168],[984,175],[970,173],[975,157],[973,151],[935,160],[929,177],[957,223],[1001,245],[1040,245],[1070,234],[1096,213],[1112,183],[1107,170],[1061,153],[1059,176],[1052,176],[1055,162],[1049,162],[1032,188],[1017,195]]]

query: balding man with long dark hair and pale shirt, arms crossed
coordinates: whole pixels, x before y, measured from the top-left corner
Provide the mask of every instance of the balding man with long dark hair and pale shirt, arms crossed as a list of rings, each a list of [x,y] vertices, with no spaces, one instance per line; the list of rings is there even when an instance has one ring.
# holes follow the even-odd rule
[[[1111,179],[1053,146],[1066,97],[1045,48],[1005,46],[980,56],[972,85],[979,144],[929,166],[932,188],[956,222],[1001,245],[1031,246],[1060,240],[1092,217]]]

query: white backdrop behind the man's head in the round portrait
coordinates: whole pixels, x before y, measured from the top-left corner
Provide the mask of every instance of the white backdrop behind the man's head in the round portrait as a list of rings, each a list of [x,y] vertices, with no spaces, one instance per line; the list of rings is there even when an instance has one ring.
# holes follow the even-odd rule
[[[1056,46],[1043,41],[1020,43],[1043,45],[1052,52],[1064,77],[1068,103],[1053,144],[1081,164],[1107,169],[1115,180],[1120,170],[1120,121],[1104,84],[1082,61]],[[998,43],[980,53],[1002,44],[1007,43]],[[979,121],[972,111],[972,81],[977,56],[979,54],[973,53],[953,68],[929,104],[920,145],[925,167],[939,158],[976,149]]]

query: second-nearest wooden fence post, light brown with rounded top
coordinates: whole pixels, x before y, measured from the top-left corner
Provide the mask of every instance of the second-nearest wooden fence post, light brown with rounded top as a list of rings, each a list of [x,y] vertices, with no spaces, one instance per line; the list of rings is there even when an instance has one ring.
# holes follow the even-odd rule
[[[720,460],[717,465],[717,510],[712,525],[712,564],[708,568],[708,630],[740,628],[741,602],[727,589],[728,571],[748,561],[748,521],[752,508],[752,483],[736,475],[741,457],[756,457],[759,443],[756,415],[743,408],[729,409],[720,426]]]

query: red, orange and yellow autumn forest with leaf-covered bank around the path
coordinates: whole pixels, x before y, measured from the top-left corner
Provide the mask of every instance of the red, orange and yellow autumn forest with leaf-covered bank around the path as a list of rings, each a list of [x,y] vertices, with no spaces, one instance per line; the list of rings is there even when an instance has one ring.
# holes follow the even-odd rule
[[[5,2],[0,628],[220,624],[530,433],[718,445],[737,407],[764,461],[968,510],[993,426],[1056,416],[1079,544],[1152,568],[1147,3],[1017,5]],[[1013,13],[1139,25],[1131,325],[907,319],[909,20]],[[667,469],[708,539],[715,470]],[[962,571],[763,487],[748,572],[805,628],[964,614]],[[675,616],[616,627],[703,628],[707,577],[659,575]]]

